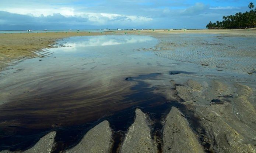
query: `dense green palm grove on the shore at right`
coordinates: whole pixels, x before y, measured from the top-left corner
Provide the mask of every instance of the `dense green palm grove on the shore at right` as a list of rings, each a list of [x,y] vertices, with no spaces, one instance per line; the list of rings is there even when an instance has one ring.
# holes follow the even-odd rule
[[[256,8],[254,4],[250,3],[248,5],[250,11],[244,13],[238,12],[235,15],[223,16],[223,21],[216,21],[206,25],[208,29],[245,29],[245,28],[255,28],[256,27]]]

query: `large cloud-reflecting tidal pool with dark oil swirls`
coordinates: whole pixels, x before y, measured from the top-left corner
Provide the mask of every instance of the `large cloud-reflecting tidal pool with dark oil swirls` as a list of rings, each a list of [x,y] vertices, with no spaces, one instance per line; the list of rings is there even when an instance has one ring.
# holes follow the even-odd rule
[[[154,88],[143,80],[165,72],[159,61],[167,67],[172,63],[155,58],[150,49],[137,51],[156,43],[149,36],[71,37],[47,50],[44,58],[3,72],[0,150],[25,150],[57,131],[57,153],[78,143],[102,120],[109,120],[114,131],[127,131],[136,107],[146,112],[167,109],[166,100],[152,94]]]

